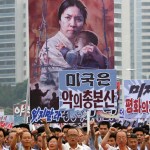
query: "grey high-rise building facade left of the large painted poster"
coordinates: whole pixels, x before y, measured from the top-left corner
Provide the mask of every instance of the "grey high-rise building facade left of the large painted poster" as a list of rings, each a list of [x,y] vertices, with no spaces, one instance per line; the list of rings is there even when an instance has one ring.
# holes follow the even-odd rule
[[[27,1],[0,0],[0,84],[29,76]]]

